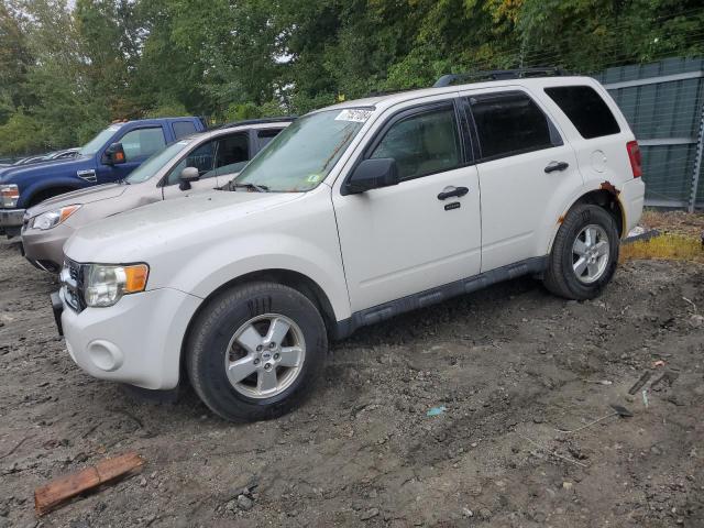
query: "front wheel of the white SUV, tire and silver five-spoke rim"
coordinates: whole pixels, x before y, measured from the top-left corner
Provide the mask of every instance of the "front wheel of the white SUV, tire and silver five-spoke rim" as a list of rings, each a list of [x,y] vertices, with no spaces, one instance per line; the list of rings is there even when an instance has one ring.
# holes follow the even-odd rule
[[[255,283],[212,299],[186,346],[200,399],[227,420],[254,421],[280,416],[307,396],[328,341],[310,299],[287,286]]]

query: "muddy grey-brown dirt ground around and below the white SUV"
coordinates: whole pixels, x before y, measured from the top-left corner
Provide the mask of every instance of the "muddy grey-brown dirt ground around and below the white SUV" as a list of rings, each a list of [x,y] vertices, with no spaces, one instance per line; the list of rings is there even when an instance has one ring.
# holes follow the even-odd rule
[[[586,302],[518,279],[362,329],[308,404],[244,426],[84,374],[56,288],[0,243],[0,527],[704,526],[704,266],[631,262]],[[559,432],[610,404],[632,418]],[[37,519],[35,486],[129,450],[141,474]]]

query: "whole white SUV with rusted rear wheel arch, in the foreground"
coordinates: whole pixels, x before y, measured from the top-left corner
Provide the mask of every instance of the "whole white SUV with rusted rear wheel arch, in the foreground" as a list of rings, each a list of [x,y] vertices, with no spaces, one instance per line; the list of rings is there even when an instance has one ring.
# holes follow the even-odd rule
[[[595,297],[641,215],[638,144],[594,79],[513,77],[311,112],[229,190],[80,229],[53,299],[72,358],[255,420],[362,326],[524,274]]]

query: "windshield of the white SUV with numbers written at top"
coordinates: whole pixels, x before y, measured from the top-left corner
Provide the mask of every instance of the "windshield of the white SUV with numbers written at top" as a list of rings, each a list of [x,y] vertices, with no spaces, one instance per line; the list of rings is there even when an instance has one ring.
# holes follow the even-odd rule
[[[326,110],[294,121],[232,180],[273,193],[304,193],[320,184],[372,109]]]

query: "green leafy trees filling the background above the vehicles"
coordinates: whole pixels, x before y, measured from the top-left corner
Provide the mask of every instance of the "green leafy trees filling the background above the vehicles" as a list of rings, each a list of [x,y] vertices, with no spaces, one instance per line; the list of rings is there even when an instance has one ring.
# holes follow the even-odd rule
[[[0,155],[114,119],[302,114],[451,72],[702,55],[703,26],[701,0],[4,0]]]

